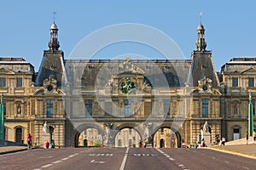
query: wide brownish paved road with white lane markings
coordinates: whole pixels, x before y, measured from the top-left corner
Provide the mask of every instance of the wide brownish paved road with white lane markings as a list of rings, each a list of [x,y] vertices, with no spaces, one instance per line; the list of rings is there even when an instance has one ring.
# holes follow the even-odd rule
[[[0,156],[0,169],[256,169],[256,161],[206,149],[64,148]]]

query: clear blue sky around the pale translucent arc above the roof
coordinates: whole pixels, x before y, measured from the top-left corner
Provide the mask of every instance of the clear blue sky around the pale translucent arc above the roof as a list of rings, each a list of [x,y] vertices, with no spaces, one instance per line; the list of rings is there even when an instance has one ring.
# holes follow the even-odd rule
[[[121,23],[153,26],[165,32],[177,42],[186,59],[190,59],[201,12],[207,49],[212,50],[217,71],[232,57],[256,56],[256,2],[253,0],[2,1],[0,56],[23,57],[38,71],[44,49],[48,49],[54,8],[65,59],[91,32]],[[120,49],[118,54],[122,53],[129,51]],[[108,55],[113,54],[104,54]]]

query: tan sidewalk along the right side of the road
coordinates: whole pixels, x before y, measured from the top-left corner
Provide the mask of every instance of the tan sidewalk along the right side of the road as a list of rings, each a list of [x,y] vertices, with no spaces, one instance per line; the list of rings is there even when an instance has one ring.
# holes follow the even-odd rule
[[[256,159],[256,144],[236,144],[225,146],[210,146],[207,147],[210,150],[222,151],[237,156],[244,156],[252,159]]]

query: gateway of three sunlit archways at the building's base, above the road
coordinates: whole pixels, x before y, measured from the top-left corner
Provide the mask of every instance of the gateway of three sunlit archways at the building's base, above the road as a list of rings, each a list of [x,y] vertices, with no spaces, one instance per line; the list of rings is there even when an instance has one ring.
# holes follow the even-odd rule
[[[136,123],[119,124],[119,126],[111,129],[108,138],[109,143],[107,144],[106,129],[97,123],[84,123],[77,128],[77,132],[74,135],[74,146],[141,147],[142,144],[155,148],[177,148],[181,146],[180,133],[172,129],[170,123],[163,123],[154,127],[148,138],[145,138],[144,130],[143,127]]]

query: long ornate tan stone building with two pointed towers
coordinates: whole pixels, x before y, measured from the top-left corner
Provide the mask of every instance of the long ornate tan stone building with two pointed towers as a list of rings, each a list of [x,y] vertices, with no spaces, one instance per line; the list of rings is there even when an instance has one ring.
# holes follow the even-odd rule
[[[0,59],[5,139],[181,147],[198,142],[206,122],[210,143],[243,138],[256,58],[231,59],[218,73],[202,24],[197,36],[190,59],[64,59],[53,23],[38,73],[24,59]]]

